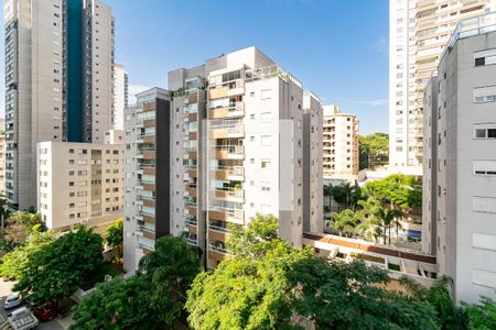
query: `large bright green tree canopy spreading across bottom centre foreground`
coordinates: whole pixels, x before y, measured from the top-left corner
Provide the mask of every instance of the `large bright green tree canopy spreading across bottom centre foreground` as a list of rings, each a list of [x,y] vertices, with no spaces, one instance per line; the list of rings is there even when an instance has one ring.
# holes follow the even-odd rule
[[[195,278],[186,302],[192,328],[438,329],[430,305],[377,286],[389,280],[386,272],[294,249],[277,228],[273,217],[257,217],[234,233],[233,256]]]

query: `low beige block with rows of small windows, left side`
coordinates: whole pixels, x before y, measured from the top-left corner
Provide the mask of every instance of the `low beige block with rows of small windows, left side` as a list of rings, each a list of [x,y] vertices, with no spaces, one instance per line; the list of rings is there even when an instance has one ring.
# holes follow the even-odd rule
[[[122,217],[123,144],[37,144],[37,209],[48,229],[106,227]]]

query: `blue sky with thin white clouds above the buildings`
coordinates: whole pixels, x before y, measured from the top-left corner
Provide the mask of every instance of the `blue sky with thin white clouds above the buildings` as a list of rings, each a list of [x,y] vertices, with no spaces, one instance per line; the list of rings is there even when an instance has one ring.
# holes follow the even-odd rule
[[[324,105],[357,114],[360,134],[388,131],[387,0],[104,2],[114,11],[116,63],[129,74],[130,95],[166,88],[169,70],[256,45]]]

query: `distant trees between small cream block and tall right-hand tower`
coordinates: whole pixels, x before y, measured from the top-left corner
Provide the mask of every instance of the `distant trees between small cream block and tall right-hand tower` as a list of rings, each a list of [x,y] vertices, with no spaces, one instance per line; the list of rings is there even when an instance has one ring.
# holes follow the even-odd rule
[[[359,169],[374,168],[389,162],[389,135],[374,133],[358,136]]]

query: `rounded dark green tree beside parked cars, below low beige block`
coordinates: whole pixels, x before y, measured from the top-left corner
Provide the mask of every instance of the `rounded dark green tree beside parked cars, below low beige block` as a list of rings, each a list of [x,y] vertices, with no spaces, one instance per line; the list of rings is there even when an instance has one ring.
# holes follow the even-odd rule
[[[35,304],[58,302],[103,262],[101,244],[101,237],[83,226],[61,235],[30,255],[14,290],[32,293]]]

